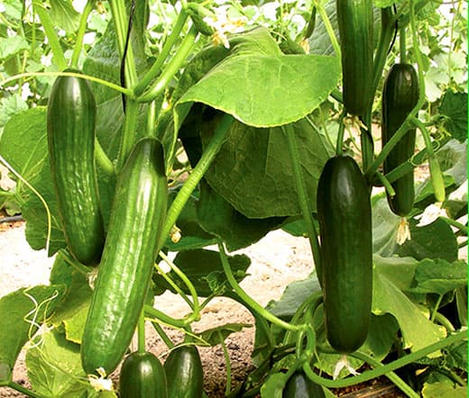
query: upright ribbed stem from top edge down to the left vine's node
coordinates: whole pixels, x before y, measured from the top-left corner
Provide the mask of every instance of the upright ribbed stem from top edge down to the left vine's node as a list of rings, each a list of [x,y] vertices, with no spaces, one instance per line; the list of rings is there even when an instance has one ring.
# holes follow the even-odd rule
[[[110,0],[109,6],[111,7],[111,14],[115,25],[115,37],[117,40],[117,48],[121,57],[124,56],[125,41],[127,39],[127,12],[125,10],[124,0]],[[135,68],[135,61],[133,59],[132,45],[127,48],[127,53],[124,60],[124,76],[125,86],[133,87],[137,81],[137,71]]]

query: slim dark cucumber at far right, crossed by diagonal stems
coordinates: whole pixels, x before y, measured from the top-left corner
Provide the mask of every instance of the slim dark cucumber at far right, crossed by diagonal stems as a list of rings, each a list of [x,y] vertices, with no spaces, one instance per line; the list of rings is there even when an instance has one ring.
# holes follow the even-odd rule
[[[382,90],[382,145],[391,140],[418,103],[418,76],[412,65],[392,66]],[[409,129],[384,159],[384,174],[400,166],[414,155],[415,128]],[[392,184],[395,195],[388,194],[391,211],[402,217],[408,215],[414,205],[414,173],[401,176]]]

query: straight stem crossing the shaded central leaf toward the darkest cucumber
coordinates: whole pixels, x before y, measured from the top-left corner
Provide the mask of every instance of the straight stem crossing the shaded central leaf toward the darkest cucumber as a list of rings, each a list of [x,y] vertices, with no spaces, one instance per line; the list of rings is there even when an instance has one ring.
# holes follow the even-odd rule
[[[303,171],[301,169],[301,162],[299,159],[299,149],[297,140],[295,138],[295,130],[291,124],[281,126],[282,131],[287,136],[287,142],[290,152],[291,167],[293,168],[293,178],[295,180],[295,187],[297,189],[299,208],[301,215],[306,224],[308,232],[309,246],[313,254],[315,269],[317,272],[317,279],[319,284],[322,284],[322,263],[321,251],[319,247],[319,240],[317,238],[317,231],[313,222],[312,209],[310,201],[308,200],[307,185],[304,179]]]

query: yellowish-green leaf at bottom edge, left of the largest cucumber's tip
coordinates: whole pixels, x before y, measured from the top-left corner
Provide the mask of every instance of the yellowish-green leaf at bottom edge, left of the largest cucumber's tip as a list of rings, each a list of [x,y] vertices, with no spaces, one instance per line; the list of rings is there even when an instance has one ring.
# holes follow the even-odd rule
[[[89,388],[81,367],[78,344],[58,331],[41,334],[26,354],[28,378],[36,393],[51,398],[80,396]]]

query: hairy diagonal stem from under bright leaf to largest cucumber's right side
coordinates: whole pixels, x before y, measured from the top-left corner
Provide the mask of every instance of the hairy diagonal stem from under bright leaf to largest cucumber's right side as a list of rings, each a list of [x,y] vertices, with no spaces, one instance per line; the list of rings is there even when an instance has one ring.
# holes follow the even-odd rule
[[[182,208],[188,202],[190,195],[196,189],[199,181],[206,174],[208,167],[210,167],[210,165],[212,164],[216,153],[218,153],[218,150],[221,148],[223,142],[225,141],[226,134],[233,121],[234,118],[230,114],[226,113],[223,116],[222,120],[216,127],[214,135],[208,143],[207,148],[202,153],[202,157],[198,160],[197,166],[194,167],[188,179],[179,190],[179,193],[174,198],[174,201],[170,205],[170,209],[166,214],[166,219],[164,221],[158,245],[159,248],[162,248],[166,243],[166,240],[170,235],[172,226],[178,220]]]

